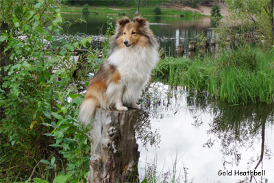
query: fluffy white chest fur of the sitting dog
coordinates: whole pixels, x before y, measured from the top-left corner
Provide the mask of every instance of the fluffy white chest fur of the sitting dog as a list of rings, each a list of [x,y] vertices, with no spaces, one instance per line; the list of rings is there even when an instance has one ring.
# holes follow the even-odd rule
[[[123,103],[136,103],[142,92],[142,88],[149,81],[151,70],[159,60],[158,51],[155,48],[125,47],[117,49],[108,58],[108,62],[119,70],[121,75],[120,87],[125,88]],[[114,86],[110,86],[109,93],[114,93]],[[117,90],[116,90],[117,92]],[[113,95],[109,95],[112,97]],[[116,96],[117,97],[117,96]],[[110,99],[111,101],[113,99]]]

